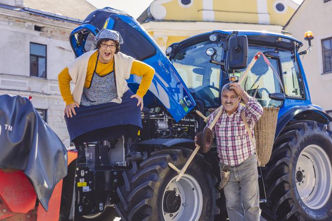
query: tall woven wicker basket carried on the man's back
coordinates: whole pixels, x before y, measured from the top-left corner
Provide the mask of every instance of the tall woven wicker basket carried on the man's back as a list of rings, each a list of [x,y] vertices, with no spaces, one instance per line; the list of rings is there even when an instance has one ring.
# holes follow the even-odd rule
[[[254,126],[259,166],[265,166],[270,161],[279,112],[279,107],[263,109],[263,116]]]

